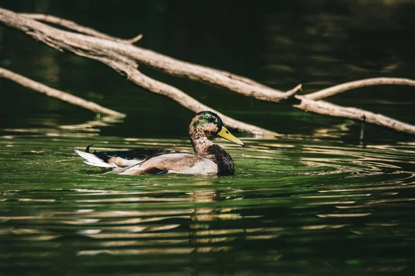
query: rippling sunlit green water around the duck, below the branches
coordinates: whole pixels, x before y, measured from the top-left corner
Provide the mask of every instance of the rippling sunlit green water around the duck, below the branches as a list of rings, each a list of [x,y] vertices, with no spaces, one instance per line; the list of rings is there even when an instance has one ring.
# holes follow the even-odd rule
[[[414,144],[245,139],[242,150],[218,140],[232,177],[120,176],[73,148],[190,143],[54,133],[0,139],[0,275],[414,269]]]

